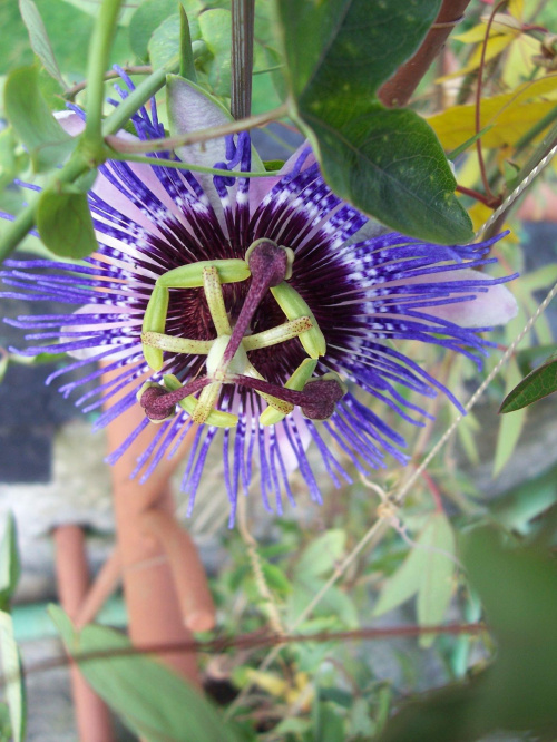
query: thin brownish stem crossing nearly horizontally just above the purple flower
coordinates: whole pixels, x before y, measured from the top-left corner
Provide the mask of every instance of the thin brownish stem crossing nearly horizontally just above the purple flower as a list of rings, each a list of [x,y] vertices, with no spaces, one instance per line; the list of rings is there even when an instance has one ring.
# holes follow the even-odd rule
[[[208,141],[209,139],[218,139],[227,134],[238,134],[247,129],[255,129],[260,126],[265,126],[278,118],[283,118],[290,111],[287,102],[282,104],[277,108],[273,108],[265,114],[257,114],[257,116],[250,116],[242,118],[237,121],[229,121],[221,126],[213,126],[208,129],[199,129],[198,131],[189,131],[177,137],[166,137],[164,139],[147,139],[145,141],[129,141],[121,139],[117,136],[107,136],[105,141],[113,149],[119,153],[144,153],[144,152],[166,152],[167,149],[176,149],[176,147],[184,147],[201,141]]]

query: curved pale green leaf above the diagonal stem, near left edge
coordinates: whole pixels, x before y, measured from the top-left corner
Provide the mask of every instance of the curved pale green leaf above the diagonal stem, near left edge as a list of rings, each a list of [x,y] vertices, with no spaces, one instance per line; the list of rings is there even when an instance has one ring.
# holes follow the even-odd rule
[[[21,67],[9,75],[4,106],[37,173],[60,164],[74,149],[75,140],[55,119],[42,97],[36,67]]]

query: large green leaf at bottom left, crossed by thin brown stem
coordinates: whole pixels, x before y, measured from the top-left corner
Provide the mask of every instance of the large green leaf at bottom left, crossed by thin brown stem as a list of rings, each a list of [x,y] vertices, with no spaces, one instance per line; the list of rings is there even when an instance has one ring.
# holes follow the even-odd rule
[[[133,732],[149,742],[238,742],[213,705],[163,664],[140,654],[110,656],[131,646],[125,636],[95,625],[77,633],[60,607],[49,614],[87,682]],[[104,656],[79,661],[95,652]]]

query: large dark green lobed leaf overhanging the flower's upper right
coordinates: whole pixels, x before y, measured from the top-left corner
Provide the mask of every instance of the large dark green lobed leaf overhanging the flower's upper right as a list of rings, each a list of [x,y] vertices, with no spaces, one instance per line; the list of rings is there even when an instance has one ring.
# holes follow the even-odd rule
[[[283,0],[277,8],[292,115],[333,191],[395,230],[451,244],[471,240],[472,228],[437,136],[413,111],[377,99],[439,4]]]

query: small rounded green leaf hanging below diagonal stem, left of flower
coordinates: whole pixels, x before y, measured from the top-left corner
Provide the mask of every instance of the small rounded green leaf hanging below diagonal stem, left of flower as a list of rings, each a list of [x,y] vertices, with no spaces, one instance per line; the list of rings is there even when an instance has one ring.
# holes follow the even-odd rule
[[[55,255],[79,260],[98,247],[87,196],[77,189],[43,191],[37,208],[37,227]]]

